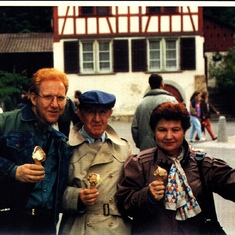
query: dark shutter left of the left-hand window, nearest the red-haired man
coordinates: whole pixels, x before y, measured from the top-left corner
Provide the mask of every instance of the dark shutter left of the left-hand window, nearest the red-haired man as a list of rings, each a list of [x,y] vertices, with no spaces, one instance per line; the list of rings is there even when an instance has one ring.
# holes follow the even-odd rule
[[[64,42],[64,71],[79,73],[78,41]]]

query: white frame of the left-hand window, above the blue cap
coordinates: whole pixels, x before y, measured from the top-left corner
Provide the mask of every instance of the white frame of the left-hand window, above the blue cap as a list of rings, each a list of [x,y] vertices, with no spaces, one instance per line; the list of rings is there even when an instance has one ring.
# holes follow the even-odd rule
[[[100,44],[101,43],[109,43],[108,51],[101,51]],[[90,63],[93,64],[93,69],[86,69],[84,67],[85,61],[84,61],[84,44],[85,43],[91,43],[93,48],[93,60],[91,60]],[[111,40],[84,40],[79,42],[80,46],[80,68],[81,68],[81,74],[106,74],[113,72],[113,49],[112,49],[112,41]],[[108,63],[109,66],[106,69],[103,69],[100,64],[102,63],[100,59],[100,53],[108,53],[108,59],[104,60],[104,63]],[[88,62],[87,62],[88,63]]]

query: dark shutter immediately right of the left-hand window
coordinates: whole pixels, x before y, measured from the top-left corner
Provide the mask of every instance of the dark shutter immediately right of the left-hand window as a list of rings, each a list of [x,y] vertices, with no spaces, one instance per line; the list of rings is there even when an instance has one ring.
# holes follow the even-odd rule
[[[128,40],[114,40],[114,72],[128,72]]]

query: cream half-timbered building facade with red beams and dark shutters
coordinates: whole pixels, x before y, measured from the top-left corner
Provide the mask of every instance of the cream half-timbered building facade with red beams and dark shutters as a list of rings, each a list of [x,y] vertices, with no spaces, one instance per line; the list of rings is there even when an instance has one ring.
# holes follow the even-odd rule
[[[149,89],[151,73],[188,105],[205,86],[202,7],[54,7],[54,67],[75,90],[116,95],[113,116],[132,116]]]

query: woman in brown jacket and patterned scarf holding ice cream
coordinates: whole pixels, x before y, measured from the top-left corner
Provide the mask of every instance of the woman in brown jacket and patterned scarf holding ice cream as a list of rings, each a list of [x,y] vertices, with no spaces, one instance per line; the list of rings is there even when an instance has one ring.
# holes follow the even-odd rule
[[[185,105],[169,102],[159,105],[151,114],[150,126],[157,147],[126,160],[116,193],[119,211],[132,217],[132,234],[207,234],[206,205],[212,205],[211,221],[216,222],[216,212],[213,199],[204,198],[197,153],[185,140],[190,127]],[[232,193],[235,169],[209,154],[205,154],[201,163],[209,194],[218,193],[235,202]],[[224,234],[219,224],[215,224],[220,234]]]

